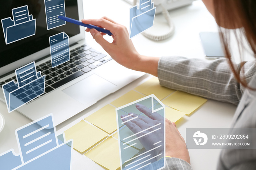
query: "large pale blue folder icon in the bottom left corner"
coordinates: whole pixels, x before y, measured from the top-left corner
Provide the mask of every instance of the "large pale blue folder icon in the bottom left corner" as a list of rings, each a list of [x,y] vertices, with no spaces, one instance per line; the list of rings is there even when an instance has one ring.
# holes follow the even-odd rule
[[[15,134],[20,153],[10,149],[0,154],[0,169],[71,169],[73,139],[66,142],[64,133],[56,135],[52,114],[16,129]]]

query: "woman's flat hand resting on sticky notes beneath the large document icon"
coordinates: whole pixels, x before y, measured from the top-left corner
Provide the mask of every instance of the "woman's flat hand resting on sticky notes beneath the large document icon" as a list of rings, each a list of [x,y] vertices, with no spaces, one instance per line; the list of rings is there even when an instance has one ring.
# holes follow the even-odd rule
[[[141,104],[136,104],[136,108],[148,117],[136,115],[133,113],[132,117],[138,116],[138,118],[124,123],[134,134],[143,131],[144,129],[147,129],[148,127],[157,125],[163,120],[163,117],[157,112],[152,113],[150,109]],[[126,120],[129,119],[123,119],[123,121]],[[159,128],[159,126],[155,126],[153,130],[157,128]],[[163,134],[161,133],[162,130],[163,128],[159,131],[151,133],[150,135],[146,135],[143,138],[139,138],[140,143],[142,143],[147,150],[152,149],[152,146],[150,146],[150,144],[158,142],[159,140],[161,140],[161,138],[163,138]],[[147,131],[145,131],[144,133],[147,133]],[[154,153],[153,155],[157,155],[161,152],[161,150],[156,150],[156,153]],[[172,123],[168,119],[165,119],[165,155],[174,158],[180,158],[190,163],[189,153],[188,149],[186,148],[185,140],[182,138],[180,132],[177,130],[175,123]]]

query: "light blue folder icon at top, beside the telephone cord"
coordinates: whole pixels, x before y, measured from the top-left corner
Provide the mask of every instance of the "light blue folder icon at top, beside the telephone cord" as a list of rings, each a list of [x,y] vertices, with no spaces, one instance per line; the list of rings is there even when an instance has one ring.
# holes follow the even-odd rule
[[[151,0],[139,0],[139,9],[130,8],[130,39],[153,26],[155,9]]]

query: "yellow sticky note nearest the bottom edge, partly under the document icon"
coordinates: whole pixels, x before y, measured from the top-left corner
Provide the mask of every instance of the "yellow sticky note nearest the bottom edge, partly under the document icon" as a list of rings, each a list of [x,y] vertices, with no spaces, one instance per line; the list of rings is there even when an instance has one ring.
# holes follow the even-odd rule
[[[138,150],[129,147],[129,152],[126,153],[125,159],[128,160],[136,155]],[[84,155],[109,170],[116,170],[120,167],[118,141],[112,136],[86,152]]]

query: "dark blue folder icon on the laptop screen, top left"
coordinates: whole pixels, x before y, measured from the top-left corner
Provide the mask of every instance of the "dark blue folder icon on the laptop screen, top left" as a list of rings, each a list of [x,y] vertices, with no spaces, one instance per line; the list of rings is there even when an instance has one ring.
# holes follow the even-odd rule
[[[35,35],[36,19],[27,5],[12,9],[12,17],[1,19],[6,44]]]

